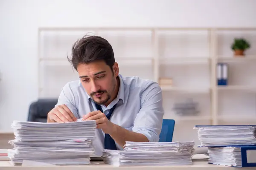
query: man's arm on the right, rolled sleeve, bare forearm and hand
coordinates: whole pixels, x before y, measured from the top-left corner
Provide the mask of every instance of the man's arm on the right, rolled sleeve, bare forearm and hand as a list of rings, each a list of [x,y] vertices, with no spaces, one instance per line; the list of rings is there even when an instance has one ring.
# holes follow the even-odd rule
[[[83,117],[83,120],[96,120],[97,128],[103,130],[120,146],[126,141],[158,142],[163,122],[162,91],[157,83],[151,83],[145,88],[141,98],[141,109],[134,121],[133,131],[113,124],[101,111],[93,111]]]

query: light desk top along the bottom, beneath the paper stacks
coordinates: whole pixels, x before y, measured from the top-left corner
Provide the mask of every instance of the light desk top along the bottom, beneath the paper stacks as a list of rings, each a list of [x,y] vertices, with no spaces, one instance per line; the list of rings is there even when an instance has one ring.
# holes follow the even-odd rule
[[[139,166],[113,167],[104,162],[99,165],[70,165],[70,166],[12,166],[9,161],[0,161],[0,170],[238,170],[241,168],[225,167],[208,164],[207,161],[195,161],[193,165],[181,166]],[[255,170],[256,167],[243,167],[242,170]]]

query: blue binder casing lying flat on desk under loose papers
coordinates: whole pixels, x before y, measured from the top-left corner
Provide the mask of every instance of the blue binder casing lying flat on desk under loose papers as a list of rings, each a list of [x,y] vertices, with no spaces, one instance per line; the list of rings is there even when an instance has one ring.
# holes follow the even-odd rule
[[[221,147],[221,146],[218,146],[218,147]],[[226,147],[226,146],[222,146],[222,147]],[[241,167],[256,167],[256,146],[239,145],[239,146],[229,146],[229,147],[241,148],[241,159],[242,159]],[[240,166],[232,166],[232,167],[240,167]]]

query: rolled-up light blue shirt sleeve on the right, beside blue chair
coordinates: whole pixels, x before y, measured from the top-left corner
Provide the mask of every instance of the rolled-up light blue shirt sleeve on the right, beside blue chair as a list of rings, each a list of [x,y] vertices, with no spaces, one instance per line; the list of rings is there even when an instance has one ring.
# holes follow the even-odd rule
[[[158,142],[164,114],[162,90],[156,82],[148,84],[141,96],[133,131],[145,135],[149,142]]]

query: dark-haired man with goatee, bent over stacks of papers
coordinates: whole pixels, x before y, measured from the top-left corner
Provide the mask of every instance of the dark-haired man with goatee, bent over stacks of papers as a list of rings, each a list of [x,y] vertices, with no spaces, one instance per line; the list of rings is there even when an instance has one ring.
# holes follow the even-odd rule
[[[163,121],[162,91],[156,82],[122,77],[112,46],[99,36],[83,37],[72,48],[80,80],[68,82],[47,122],[96,120],[96,155],[122,150],[125,141],[158,142]]]

